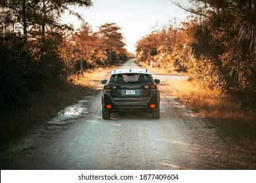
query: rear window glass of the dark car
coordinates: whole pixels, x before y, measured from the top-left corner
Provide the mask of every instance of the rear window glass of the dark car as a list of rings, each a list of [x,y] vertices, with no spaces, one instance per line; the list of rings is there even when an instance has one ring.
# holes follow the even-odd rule
[[[110,84],[152,84],[152,77],[135,73],[112,75]]]

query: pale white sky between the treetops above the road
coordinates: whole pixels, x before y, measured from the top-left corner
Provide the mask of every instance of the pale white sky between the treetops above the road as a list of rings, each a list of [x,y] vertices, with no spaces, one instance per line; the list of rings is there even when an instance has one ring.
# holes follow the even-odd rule
[[[141,37],[150,33],[153,27],[161,27],[170,22],[186,20],[186,13],[173,5],[170,0],[92,0],[93,7],[78,8],[75,11],[83,15],[86,22],[97,31],[102,24],[114,22],[121,27],[125,37],[126,48],[135,53],[135,44]],[[188,6],[188,0],[179,1]],[[62,22],[74,24],[77,29],[81,22],[66,12]]]

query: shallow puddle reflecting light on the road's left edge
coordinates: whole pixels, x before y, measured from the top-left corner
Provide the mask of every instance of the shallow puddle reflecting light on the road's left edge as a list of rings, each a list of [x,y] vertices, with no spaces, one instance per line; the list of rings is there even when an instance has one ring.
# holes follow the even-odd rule
[[[85,96],[74,105],[70,105],[68,107],[63,108],[58,112],[58,114],[49,120],[47,124],[55,124],[55,125],[62,125],[68,124],[70,122],[74,122],[81,118],[83,115],[88,114],[88,103],[91,99],[91,96]]]

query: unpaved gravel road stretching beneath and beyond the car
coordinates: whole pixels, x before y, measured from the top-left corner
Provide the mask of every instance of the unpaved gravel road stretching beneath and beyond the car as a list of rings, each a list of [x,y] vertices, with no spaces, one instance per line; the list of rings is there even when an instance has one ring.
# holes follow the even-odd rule
[[[123,67],[138,67],[133,60]],[[102,120],[100,90],[85,93],[47,123],[1,150],[1,169],[256,169],[256,158],[165,92],[160,120],[116,112]],[[102,78],[104,79],[104,78]]]

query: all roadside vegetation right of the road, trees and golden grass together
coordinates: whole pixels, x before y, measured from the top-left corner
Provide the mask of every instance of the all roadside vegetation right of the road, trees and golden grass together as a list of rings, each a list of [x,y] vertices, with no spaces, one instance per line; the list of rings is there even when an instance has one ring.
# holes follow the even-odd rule
[[[188,81],[170,81],[169,91],[256,154],[255,1],[192,1],[177,6],[192,13],[137,42],[137,61]]]

